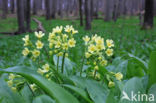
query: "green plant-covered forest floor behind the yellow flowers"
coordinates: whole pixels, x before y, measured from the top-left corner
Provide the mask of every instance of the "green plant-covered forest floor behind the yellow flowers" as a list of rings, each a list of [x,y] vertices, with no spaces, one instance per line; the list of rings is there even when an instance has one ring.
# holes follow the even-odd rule
[[[46,36],[44,37],[45,44],[48,43],[48,32],[51,32],[52,28],[55,26],[73,25],[73,27],[79,31],[79,33],[75,35],[77,46],[72,49],[72,54],[70,55],[70,59],[74,62],[79,62],[83,55],[82,37],[85,35],[91,36],[98,34],[105,39],[114,40],[115,57],[119,56],[123,52],[128,52],[148,62],[151,51],[156,50],[155,27],[152,30],[141,30],[139,19],[137,17],[131,17],[128,19],[120,18],[115,23],[104,22],[103,20],[94,20],[92,22],[92,30],[90,31],[85,31],[84,27],[80,27],[79,20],[56,19],[46,21],[44,17],[36,18],[43,23],[43,26],[47,31]],[[37,24],[32,21],[31,27],[32,29],[35,29]],[[0,20],[0,32],[12,32],[16,30],[16,18]],[[31,40],[35,41],[34,33],[29,34]],[[25,34],[16,36],[0,34],[0,68],[20,65],[25,62],[21,53],[24,48],[22,41],[24,36]]]

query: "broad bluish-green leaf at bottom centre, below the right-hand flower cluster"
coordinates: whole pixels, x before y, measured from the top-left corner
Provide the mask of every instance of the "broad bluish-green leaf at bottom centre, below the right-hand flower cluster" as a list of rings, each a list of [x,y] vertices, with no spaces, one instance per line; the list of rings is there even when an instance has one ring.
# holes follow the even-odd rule
[[[94,103],[106,103],[109,90],[105,85],[102,85],[95,80],[81,77],[72,77],[71,79],[78,87],[87,89],[88,94]]]

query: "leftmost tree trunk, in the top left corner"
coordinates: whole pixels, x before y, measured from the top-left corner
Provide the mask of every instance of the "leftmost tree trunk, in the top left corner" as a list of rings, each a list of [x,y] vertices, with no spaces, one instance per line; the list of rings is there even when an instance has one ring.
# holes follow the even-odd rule
[[[2,19],[6,19],[8,13],[8,0],[2,0]]]

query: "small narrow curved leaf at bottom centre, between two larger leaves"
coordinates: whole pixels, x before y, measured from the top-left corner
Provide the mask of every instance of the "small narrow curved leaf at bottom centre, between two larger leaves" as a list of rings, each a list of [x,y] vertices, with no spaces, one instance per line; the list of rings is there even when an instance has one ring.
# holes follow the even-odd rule
[[[75,86],[72,86],[72,85],[67,85],[67,84],[65,84],[63,86],[66,87],[66,88],[69,88],[69,89],[71,89],[73,91],[75,91],[77,94],[82,96],[86,101],[88,101],[89,103],[92,103],[92,101],[88,97],[88,94],[83,89],[75,87]]]

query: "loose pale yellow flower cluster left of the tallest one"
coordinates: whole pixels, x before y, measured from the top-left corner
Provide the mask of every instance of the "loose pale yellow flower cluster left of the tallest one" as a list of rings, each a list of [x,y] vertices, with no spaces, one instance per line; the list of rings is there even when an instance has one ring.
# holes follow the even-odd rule
[[[24,50],[22,51],[23,56],[28,56],[29,54],[32,54],[32,59],[37,58],[40,55],[40,50],[43,48],[44,44],[41,42],[41,38],[45,34],[42,31],[35,32],[35,36],[37,37],[37,42],[35,45],[32,44],[32,42],[29,40],[29,35],[26,35],[23,39],[24,43]],[[32,49],[32,50],[29,50]]]

